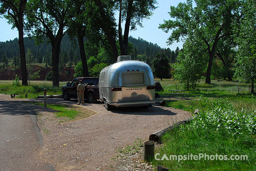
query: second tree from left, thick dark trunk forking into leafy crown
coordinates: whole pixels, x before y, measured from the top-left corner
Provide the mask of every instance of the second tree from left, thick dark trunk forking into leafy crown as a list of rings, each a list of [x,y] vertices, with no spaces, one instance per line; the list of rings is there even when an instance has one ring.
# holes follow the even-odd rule
[[[47,36],[52,45],[53,86],[59,86],[59,55],[61,41],[67,31],[68,21],[74,16],[69,0],[30,0],[28,2],[28,28],[31,35],[42,42]]]

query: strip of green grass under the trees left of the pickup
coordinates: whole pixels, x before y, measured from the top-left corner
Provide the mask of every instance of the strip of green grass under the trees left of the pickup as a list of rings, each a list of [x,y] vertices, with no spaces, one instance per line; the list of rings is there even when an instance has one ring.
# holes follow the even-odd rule
[[[25,98],[25,94],[28,94],[28,98],[37,98],[38,95],[43,95],[44,88],[47,89],[47,95],[62,94],[61,86],[66,85],[67,82],[59,82],[60,87],[53,87],[52,81],[30,81],[29,86],[14,87],[11,80],[3,80],[0,84],[1,94],[16,94],[17,98]]]

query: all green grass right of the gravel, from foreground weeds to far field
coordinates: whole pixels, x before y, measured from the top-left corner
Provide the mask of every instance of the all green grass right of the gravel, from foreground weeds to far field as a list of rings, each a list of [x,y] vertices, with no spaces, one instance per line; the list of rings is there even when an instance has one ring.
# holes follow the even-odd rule
[[[166,106],[191,112],[198,108],[200,113],[190,124],[163,136],[163,146],[156,149],[155,154],[159,154],[158,159],[166,154],[170,160],[152,159],[152,164],[177,171],[256,170],[256,98],[248,93],[247,84],[212,81],[213,84],[206,85],[203,82],[198,84],[199,90],[189,92],[193,99],[166,101]],[[168,89],[176,89],[176,84],[177,89],[183,89],[173,80],[160,83],[164,88],[164,92],[159,92],[162,95],[168,93]],[[182,159],[188,154],[227,155],[228,159],[175,160],[175,155]],[[232,160],[231,155],[247,155],[248,160]]]

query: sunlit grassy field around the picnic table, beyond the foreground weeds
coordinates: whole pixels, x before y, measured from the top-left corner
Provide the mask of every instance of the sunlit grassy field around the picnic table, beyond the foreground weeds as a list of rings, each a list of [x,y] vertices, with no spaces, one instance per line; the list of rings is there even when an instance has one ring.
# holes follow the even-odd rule
[[[163,92],[158,92],[161,96],[166,96],[165,93],[170,93],[169,89],[184,89],[183,85],[178,83],[173,79],[164,79],[160,81],[163,87]],[[204,80],[201,80],[198,83],[198,87],[194,91],[187,91],[189,98],[192,100],[186,99],[169,99],[166,101],[166,107],[173,107],[177,109],[186,110],[193,112],[196,106],[198,105],[197,100],[199,97],[207,97],[208,99],[217,100],[219,98],[224,98],[232,102],[235,107],[238,109],[254,109],[256,110],[256,99],[252,98],[253,96],[249,94],[249,85],[244,83],[237,82],[228,82],[228,81],[216,81],[212,80],[212,84],[204,84]],[[238,94],[239,90],[239,94]]]

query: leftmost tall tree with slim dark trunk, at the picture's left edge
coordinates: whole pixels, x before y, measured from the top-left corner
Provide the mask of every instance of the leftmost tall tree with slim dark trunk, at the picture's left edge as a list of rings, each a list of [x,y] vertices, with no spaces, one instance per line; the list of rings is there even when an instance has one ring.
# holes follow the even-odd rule
[[[13,25],[12,28],[17,28],[19,32],[21,79],[24,86],[28,86],[23,31],[26,3],[27,0],[0,0],[0,14],[8,20],[9,24]]]

